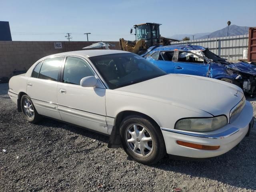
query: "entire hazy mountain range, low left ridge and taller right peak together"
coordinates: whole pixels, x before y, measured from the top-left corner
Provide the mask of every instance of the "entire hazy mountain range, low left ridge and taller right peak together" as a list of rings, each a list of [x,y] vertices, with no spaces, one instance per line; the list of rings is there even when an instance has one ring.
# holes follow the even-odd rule
[[[237,26],[237,25],[230,25],[229,28],[225,27],[223,29],[214,31],[212,33],[196,33],[196,34],[176,34],[167,38],[171,39],[178,39],[182,40],[184,37],[189,37],[190,39],[207,39],[209,38],[215,38],[215,37],[225,37],[227,36],[236,36],[236,35],[245,35],[248,34],[249,27],[243,27],[243,26]]]

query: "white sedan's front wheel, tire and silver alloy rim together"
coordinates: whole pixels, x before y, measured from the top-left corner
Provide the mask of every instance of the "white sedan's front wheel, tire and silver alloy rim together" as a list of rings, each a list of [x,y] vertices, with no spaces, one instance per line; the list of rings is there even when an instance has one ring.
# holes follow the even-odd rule
[[[126,154],[137,162],[154,164],[166,154],[162,132],[148,118],[125,118],[120,125],[120,135]]]

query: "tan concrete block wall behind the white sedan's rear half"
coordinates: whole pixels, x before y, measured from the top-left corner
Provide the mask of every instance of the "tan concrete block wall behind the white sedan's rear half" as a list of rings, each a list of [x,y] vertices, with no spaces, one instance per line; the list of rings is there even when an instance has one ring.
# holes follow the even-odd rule
[[[82,50],[89,46],[92,41],[62,42],[61,49],[54,48],[54,41],[0,41],[0,78],[12,76],[13,71],[28,70],[38,59],[51,54]],[[115,44],[110,49],[120,50],[119,42],[109,42]],[[101,48],[99,48],[101,49]]]

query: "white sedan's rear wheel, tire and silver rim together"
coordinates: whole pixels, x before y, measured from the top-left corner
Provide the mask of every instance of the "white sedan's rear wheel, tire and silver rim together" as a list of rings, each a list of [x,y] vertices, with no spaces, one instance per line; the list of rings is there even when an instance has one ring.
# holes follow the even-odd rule
[[[23,95],[20,101],[22,113],[26,120],[30,123],[37,123],[42,119],[42,116],[38,114],[36,108],[28,95]]]

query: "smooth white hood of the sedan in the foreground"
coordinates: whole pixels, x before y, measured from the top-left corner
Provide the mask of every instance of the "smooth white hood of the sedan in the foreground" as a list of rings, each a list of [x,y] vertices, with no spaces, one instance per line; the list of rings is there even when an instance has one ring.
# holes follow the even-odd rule
[[[234,84],[183,74],[168,74],[116,90],[188,110],[203,110],[214,116],[229,116],[244,96],[242,89]]]

